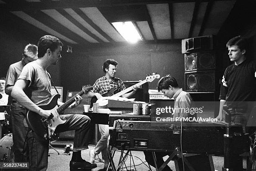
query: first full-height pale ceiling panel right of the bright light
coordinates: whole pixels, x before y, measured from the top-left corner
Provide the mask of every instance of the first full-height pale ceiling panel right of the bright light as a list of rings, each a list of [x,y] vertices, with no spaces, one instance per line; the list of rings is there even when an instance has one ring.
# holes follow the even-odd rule
[[[159,40],[171,39],[171,25],[168,4],[148,4],[148,13]]]

